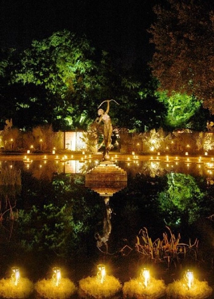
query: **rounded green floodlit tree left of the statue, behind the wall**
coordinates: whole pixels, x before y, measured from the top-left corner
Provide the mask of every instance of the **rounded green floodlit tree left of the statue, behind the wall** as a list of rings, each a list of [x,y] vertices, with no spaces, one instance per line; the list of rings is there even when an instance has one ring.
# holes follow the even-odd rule
[[[33,41],[31,47],[20,54],[20,65],[13,71],[12,81],[26,86],[30,91],[30,106],[41,106],[46,122],[55,120],[55,127],[60,127],[61,120],[68,117],[72,124],[72,116],[78,114],[81,118],[84,114],[82,99],[97,84],[93,53],[94,48],[86,38],[77,38],[66,30],[56,32],[42,41]],[[39,87],[38,94],[32,93],[32,86]],[[41,90],[45,95],[42,98]],[[49,117],[47,113],[43,115],[44,108]]]

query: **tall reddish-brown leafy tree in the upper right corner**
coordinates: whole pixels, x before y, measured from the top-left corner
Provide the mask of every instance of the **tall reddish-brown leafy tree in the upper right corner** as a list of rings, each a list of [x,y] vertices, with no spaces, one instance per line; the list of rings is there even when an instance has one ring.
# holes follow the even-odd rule
[[[154,7],[151,62],[160,89],[194,95],[214,114],[214,14],[208,0],[167,0]]]

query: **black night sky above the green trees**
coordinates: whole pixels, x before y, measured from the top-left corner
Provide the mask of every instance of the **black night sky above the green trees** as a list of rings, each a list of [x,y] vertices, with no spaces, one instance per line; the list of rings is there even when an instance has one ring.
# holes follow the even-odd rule
[[[33,39],[68,29],[86,34],[96,49],[132,61],[148,60],[147,29],[161,0],[1,0],[1,46],[24,49]]]

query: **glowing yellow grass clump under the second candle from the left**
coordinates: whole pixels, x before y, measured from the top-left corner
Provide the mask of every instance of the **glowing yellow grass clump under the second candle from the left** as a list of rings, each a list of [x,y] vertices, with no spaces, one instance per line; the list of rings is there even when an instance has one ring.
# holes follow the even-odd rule
[[[35,283],[35,290],[43,298],[66,299],[76,292],[76,286],[68,278],[61,278],[58,286],[54,286],[52,279],[42,279]]]

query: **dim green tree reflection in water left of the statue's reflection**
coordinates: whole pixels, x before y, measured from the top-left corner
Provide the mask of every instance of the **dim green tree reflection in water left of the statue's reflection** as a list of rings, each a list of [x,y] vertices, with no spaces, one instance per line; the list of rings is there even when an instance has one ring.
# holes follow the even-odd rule
[[[42,184],[41,180],[27,179],[32,189],[23,192],[31,198],[31,204],[19,209],[17,219],[20,243],[25,250],[50,250],[65,255],[79,246],[81,238],[93,236],[90,225],[98,207],[92,205],[95,196],[80,188],[84,186],[83,176],[55,175],[51,182],[42,180]]]

